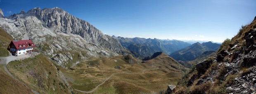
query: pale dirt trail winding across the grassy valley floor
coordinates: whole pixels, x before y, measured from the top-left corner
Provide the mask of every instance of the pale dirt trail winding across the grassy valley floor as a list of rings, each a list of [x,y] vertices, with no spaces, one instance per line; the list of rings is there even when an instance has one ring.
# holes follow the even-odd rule
[[[154,69],[156,69],[156,68],[154,68]],[[137,73],[142,73],[142,72],[145,72],[145,71],[147,71],[147,70],[154,70],[154,69],[146,69],[146,70],[143,70],[143,71],[141,71],[141,72],[137,72]],[[134,72],[123,72],[123,73],[113,73],[113,74],[111,74],[106,80],[104,80],[104,82],[102,82],[100,85],[103,85],[107,80],[109,80],[113,75],[116,75],[116,74],[137,74],[137,73],[134,73]],[[86,92],[86,91],[82,91],[82,90],[78,90],[78,89],[75,89],[76,91],[79,91],[79,92],[83,92],[83,93],[92,93],[92,92],[94,92],[96,89],[98,89],[98,87],[100,87],[100,85],[98,85],[97,87],[95,87],[94,89],[92,89],[91,91],[88,91],[88,92]]]

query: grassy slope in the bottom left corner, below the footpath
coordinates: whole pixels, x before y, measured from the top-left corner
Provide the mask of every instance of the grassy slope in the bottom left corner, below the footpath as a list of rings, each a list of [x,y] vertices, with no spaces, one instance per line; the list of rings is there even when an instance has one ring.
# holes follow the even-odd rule
[[[23,83],[9,76],[0,65],[0,94],[33,94]]]

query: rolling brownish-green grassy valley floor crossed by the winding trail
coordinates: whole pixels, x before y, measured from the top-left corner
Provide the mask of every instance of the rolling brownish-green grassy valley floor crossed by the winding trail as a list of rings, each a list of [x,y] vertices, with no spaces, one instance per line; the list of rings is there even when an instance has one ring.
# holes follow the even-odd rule
[[[71,78],[69,81],[74,89],[83,91],[92,90],[112,73],[126,72],[114,75],[94,92],[119,94],[158,92],[166,89],[170,83],[176,85],[179,78],[184,74],[179,69],[171,68],[170,65],[172,63],[169,61],[175,60],[170,57],[170,60],[168,60],[166,58],[168,57],[167,55],[156,57],[154,61],[147,61],[145,63],[130,57],[133,64],[129,64],[129,60],[126,60],[125,57],[115,56],[112,58],[95,59],[94,61],[80,63],[78,66],[73,67],[72,70],[61,69],[61,71],[65,71],[65,74]],[[163,64],[164,62],[166,63]],[[152,67],[152,63],[155,63],[155,66]],[[178,62],[175,61],[175,63]],[[119,66],[121,69],[115,69],[116,66]],[[176,67],[178,68],[178,66]],[[182,65],[180,67],[185,69]]]

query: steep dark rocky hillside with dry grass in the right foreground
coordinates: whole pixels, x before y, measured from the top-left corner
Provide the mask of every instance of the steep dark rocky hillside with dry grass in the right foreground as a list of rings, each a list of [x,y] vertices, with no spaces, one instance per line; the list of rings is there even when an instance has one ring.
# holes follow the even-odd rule
[[[256,17],[226,39],[217,55],[198,63],[178,82],[175,94],[254,94]],[[170,92],[169,92],[170,93]]]

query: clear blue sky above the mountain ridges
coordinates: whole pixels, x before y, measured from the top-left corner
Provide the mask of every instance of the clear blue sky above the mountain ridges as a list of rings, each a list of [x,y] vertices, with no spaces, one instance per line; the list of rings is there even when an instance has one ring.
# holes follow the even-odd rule
[[[5,16],[60,7],[103,33],[222,42],[256,16],[256,0],[0,0]]]

